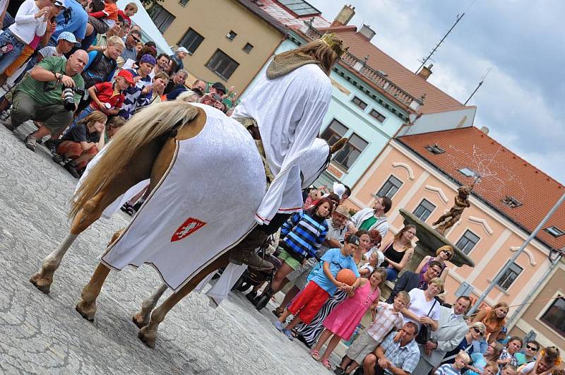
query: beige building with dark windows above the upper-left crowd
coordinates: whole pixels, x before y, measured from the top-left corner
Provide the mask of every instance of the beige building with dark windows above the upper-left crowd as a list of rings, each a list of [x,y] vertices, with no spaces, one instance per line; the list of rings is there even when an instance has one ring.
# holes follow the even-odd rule
[[[185,47],[195,78],[242,92],[283,42],[286,28],[249,0],[165,0],[148,9],[169,45]]]

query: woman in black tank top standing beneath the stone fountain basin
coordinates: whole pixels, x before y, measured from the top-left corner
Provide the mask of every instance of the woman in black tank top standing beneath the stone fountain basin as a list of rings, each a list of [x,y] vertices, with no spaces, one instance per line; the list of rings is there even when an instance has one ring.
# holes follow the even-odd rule
[[[381,267],[386,268],[386,280],[396,280],[398,273],[403,270],[412,254],[414,254],[414,245],[412,239],[416,235],[416,227],[414,225],[406,225],[388,242],[381,242],[379,249],[384,254],[384,262]]]

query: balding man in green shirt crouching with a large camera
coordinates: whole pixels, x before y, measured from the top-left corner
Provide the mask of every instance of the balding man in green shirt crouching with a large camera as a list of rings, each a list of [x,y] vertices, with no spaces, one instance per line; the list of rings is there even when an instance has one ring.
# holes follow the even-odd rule
[[[81,72],[87,63],[88,54],[83,49],[76,50],[69,59],[47,57],[16,85],[11,124],[6,127],[13,130],[25,121],[40,121],[40,129],[25,138],[26,147],[33,152],[37,139],[60,133],[71,124],[84,90]]]

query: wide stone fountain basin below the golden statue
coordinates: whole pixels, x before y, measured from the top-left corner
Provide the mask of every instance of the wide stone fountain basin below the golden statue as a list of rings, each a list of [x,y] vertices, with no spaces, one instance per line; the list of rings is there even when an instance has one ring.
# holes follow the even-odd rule
[[[404,218],[404,225],[412,224],[416,227],[416,237],[418,237],[418,242],[416,243],[417,250],[422,251],[425,255],[436,256],[436,250],[441,246],[449,245],[455,251],[453,258],[449,261],[455,266],[470,266],[475,267],[475,262],[472,261],[467,254],[460,251],[454,244],[452,244],[446,237],[442,236],[433,227],[430,227],[425,222],[420,220],[417,216],[408,212],[404,208],[400,208],[400,215]],[[416,259],[415,259],[416,261]],[[418,261],[419,263],[419,261]],[[417,265],[416,265],[417,266]],[[411,269],[410,267],[408,269]]]

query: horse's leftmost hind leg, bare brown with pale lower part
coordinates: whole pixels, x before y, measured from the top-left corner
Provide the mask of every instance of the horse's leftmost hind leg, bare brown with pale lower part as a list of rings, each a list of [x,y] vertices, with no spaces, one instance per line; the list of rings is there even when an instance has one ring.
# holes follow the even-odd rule
[[[117,174],[104,191],[98,192],[91,198],[81,210],[76,214],[71,230],[63,242],[57,246],[51,254],[44,258],[41,269],[32,275],[30,282],[45,294],[49,293],[49,288],[53,282],[53,274],[59,268],[63,256],[74,242],[78,234],[81,234],[93,222],[100,218],[102,212],[115,201],[121,194],[124,194],[131,186],[139,181],[150,178],[153,162],[162,148],[162,141],[156,139],[140,148],[137,152],[136,160],[131,168]]]

